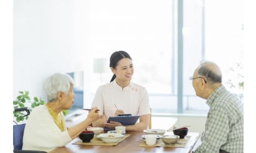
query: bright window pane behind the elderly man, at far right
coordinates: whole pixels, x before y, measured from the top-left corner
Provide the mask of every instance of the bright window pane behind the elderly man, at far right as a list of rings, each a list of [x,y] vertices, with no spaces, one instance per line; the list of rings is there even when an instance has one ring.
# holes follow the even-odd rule
[[[238,84],[243,82],[244,76],[243,8],[242,0],[206,1],[205,14],[206,59],[216,61],[222,70],[223,84],[240,98],[243,90]],[[235,87],[231,87],[229,80]]]

